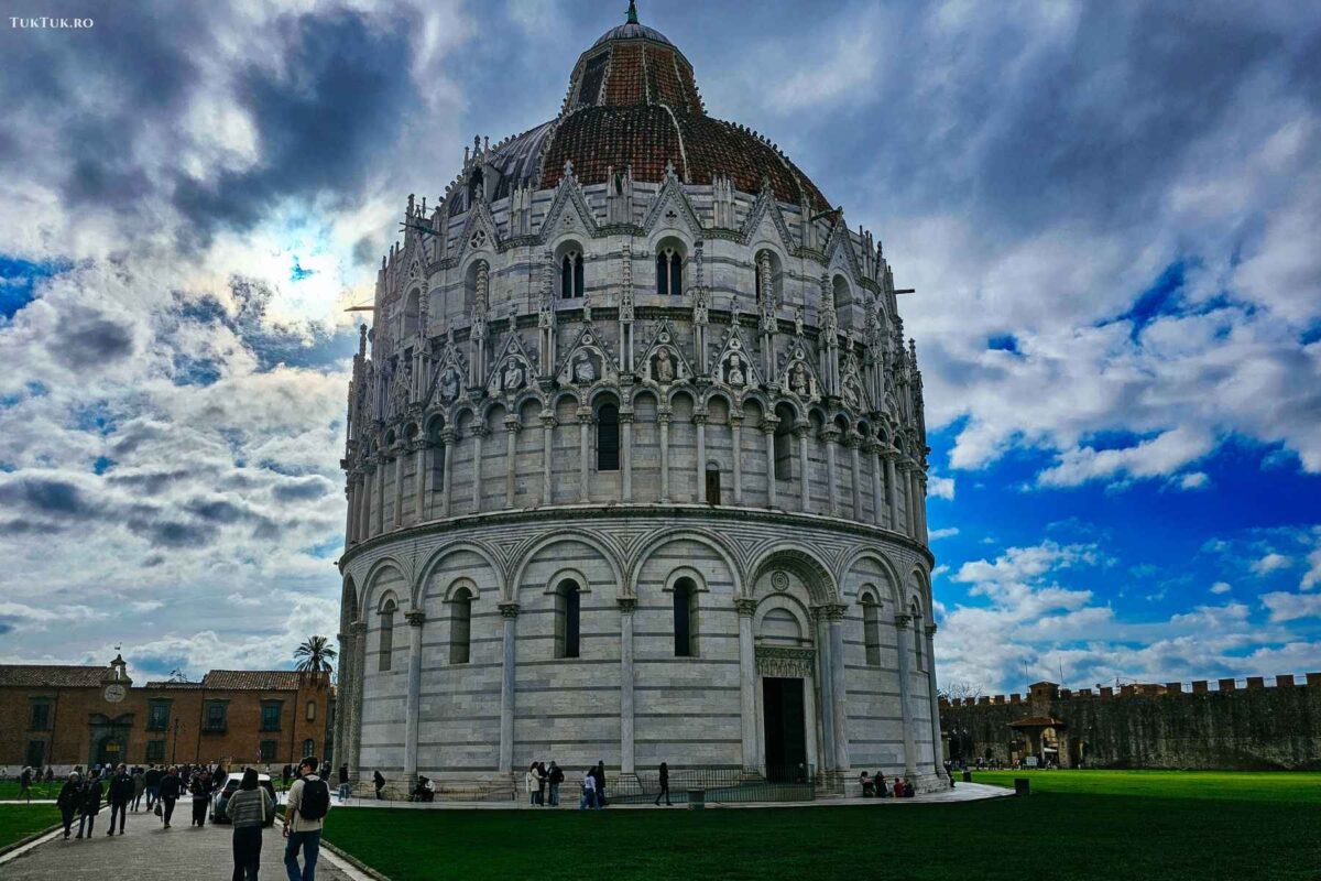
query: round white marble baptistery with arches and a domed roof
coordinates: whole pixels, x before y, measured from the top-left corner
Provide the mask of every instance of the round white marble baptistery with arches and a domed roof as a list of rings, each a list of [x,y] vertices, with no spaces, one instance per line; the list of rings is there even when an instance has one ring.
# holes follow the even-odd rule
[[[337,761],[939,786],[880,243],[631,9],[400,229],[349,392]]]

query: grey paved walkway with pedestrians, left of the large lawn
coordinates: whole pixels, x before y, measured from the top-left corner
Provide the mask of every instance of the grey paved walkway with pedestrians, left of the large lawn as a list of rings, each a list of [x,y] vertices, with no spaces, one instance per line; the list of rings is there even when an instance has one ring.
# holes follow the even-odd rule
[[[110,811],[96,818],[91,839],[63,840],[63,832],[42,839],[36,847],[0,857],[4,881],[95,881],[95,878],[132,878],[133,881],[178,881],[190,878],[229,878],[234,866],[229,826],[207,823],[203,828],[188,824],[189,806],[182,815],[176,810],[174,823],[161,828],[156,816],[141,811],[128,814],[128,831],[107,836]],[[77,828],[77,827],[75,827]],[[338,865],[337,865],[338,864]],[[262,841],[262,877],[284,878],[284,837],[280,827],[267,829]],[[321,851],[317,881],[357,881],[366,876],[345,866]]]

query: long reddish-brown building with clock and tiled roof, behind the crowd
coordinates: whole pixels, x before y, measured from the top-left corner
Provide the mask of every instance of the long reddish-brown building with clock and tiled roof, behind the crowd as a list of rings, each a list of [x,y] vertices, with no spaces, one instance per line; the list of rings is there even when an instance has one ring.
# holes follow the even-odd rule
[[[0,766],[242,762],[325,756],[333,688],[288,670],[213,670],[135,686],[108,666],[0,664]]]

